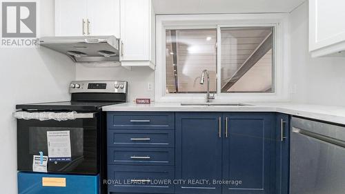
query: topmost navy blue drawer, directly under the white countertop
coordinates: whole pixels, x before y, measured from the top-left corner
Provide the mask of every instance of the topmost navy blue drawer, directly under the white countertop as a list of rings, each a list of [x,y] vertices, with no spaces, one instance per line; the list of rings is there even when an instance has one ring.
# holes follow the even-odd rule
[[[112,129],[175,129],[175,113],[108,113]]]

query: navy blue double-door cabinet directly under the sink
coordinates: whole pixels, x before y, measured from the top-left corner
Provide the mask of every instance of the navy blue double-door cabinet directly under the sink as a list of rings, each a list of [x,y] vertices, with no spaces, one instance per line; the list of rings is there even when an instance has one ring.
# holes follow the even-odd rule
[[[177,193],[275,190],[275,113],[177,113]]]

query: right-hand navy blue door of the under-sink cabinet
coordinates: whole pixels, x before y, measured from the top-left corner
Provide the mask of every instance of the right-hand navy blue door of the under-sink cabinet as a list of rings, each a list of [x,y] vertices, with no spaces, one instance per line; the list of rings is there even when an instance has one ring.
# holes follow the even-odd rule
[[[275,182],[275,115],[224,114],[223,185],[226,194],[265,194]],[[236,182],[237,181],[237,182]]]

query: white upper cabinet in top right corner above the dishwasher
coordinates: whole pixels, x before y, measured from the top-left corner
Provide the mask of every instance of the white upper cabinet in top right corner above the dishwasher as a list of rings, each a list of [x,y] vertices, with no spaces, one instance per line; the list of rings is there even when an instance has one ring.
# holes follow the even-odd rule
[[[312,57],[345,56],[345,1],[309,0],[309,50]]]

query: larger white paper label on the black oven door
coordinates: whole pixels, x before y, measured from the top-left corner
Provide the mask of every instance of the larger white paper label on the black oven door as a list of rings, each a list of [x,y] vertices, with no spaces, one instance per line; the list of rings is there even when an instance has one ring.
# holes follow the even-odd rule
[[[49,162],[70,162],[70,131],[47,131],[48,160]]]

